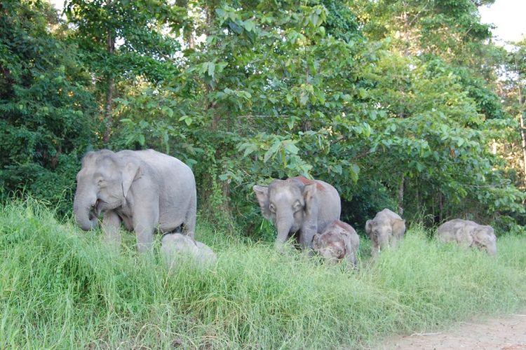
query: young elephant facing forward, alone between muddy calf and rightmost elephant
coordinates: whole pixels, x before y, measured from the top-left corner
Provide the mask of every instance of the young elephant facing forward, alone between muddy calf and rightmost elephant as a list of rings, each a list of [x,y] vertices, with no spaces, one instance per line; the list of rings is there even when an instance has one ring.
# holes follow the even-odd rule
[[[389,209],[376,214],[365,223],[365,232],[371,239],[371,253],[375,257],[382,248],[396,246],[405,233],[405,220]]]

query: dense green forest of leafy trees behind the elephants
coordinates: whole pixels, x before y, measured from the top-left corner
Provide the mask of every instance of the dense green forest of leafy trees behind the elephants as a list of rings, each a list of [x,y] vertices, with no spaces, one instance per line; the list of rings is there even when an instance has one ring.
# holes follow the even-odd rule
[[[274,239],[255,183],[304,175],[358,229],[389,207],[526,224],[526,40],[492,0],[0,4],[0,196],[71,213],[86,151],[154,148],[194,170],[202,220]]]

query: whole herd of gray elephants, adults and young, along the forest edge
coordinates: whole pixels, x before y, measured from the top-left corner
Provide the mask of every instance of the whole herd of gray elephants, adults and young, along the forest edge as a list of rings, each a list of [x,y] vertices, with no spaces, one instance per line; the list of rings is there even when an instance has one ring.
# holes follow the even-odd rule
[[[135,232],[140,252],[149,251],[155,230],[162,232],[161,251],[168,264],[183,254],[203,263],[216,260],[210,247],[194,240],[196,182],[191,169],[177,158],[154,150],[88,152],[76,183],[76,222],[90,230],[104,213],[102,231],[107,244],[120,246],[122,224]],[[278,251],[295,237],[302,250],[316,251],[327,262],[347,260],[356,265],[360,239],[351,225],[339,221],[340,197],[333,186],[297,176],[274,180],[269,186],[256,185],[253,190],[262,215],[276,227]],[[403,238],[405,220],[384,209],[367,221],[365,231],[375,257]],[[436,233],[441,241],[497,253],[497,238],[490,226],[454,219],[440,225]]]

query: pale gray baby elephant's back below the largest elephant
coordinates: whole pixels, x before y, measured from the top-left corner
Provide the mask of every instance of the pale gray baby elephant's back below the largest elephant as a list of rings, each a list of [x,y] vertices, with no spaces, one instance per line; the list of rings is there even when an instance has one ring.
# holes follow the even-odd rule
[[[161,251],[168,268],[173,268],[178,259],[194,260],[200,267],[213,265],[217,261],[212,248],[187,235],[170,233],[161,239]]]

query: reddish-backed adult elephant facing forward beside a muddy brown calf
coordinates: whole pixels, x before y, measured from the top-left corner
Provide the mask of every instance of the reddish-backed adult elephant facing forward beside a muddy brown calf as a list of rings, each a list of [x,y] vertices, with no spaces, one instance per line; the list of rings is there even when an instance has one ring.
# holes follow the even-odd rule
[[[303,176],[274,180],[269,186],[256,185],[253,190],[263,216],[278,230],[275,245],[279,251],[294,233],[302,249],[312,248],[312,237],[338,220],[342,210],[334,187]]]

